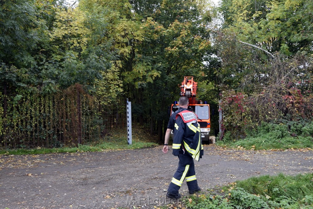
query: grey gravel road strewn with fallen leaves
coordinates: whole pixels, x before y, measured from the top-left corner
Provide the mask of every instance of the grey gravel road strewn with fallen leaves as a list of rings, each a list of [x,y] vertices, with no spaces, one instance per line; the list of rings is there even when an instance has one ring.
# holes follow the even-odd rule
[[[153,208],[165,198],[178,159],[158,146],[103,153],[0,156],[0,208]],[[244,151],[204,146],[202,191],[251,176],[313,172],[312,150]],[[186,182],[180,193],[188,194]]]

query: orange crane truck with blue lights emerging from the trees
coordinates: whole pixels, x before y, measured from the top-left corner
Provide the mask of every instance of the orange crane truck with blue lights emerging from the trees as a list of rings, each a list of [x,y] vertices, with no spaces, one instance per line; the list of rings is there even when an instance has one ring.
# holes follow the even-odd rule
[[[180,87],[180,96],[189,99],[188,110],[192,111],[198,116],[198,123],[200,124],[201,139],[204,143],[209,143],[210,138],[210,105],[204,101],[196,99],[198,83],[193,81],[192,76],[185,76]],[[171,115],[178,110],[179,105],[177,101],[171,106]],[[173,131],[172,131],[173,138]]]

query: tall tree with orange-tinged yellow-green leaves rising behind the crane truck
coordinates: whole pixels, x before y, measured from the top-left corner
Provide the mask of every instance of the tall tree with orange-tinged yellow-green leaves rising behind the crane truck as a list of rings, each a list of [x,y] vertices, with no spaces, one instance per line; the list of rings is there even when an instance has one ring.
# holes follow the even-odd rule
[[[183,76],[202,75],[203,61],[211,48],[208,18],[201,5],[192,0],[131,3],[143,23],[144,40],[135,46],[134,68],[124,76],[135,92],[136,105],[141,107],[137,111],[150,121],[151,133],[156,124],[162,141],[167,105],[179,97],[177,85]]]

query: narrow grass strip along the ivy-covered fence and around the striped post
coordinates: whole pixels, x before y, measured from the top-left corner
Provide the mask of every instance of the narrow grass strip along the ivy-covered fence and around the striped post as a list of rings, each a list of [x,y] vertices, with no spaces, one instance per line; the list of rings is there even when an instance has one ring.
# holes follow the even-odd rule
[[[74,152],[102,152],[116,149],[141,149],[155,146],[156,139],[147,135],[142,127],[134,126],[132,134],[132,144],[128,145],[126,129],[113,130],[110,135],[99,141],[79,144],[78,147],[61,148],[36,148],[36,149],[0,149],[0,154],[22,155],[22,154],[48,154],[48,153],[74,153]]]

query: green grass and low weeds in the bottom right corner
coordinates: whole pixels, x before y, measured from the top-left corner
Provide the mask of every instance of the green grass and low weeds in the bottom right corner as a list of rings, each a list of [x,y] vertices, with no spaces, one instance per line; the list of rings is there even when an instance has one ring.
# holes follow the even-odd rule
[[[192,195],[183,199],[189,209],[313,208],[313,174],[252,177],[223,188],[224,194]]]

